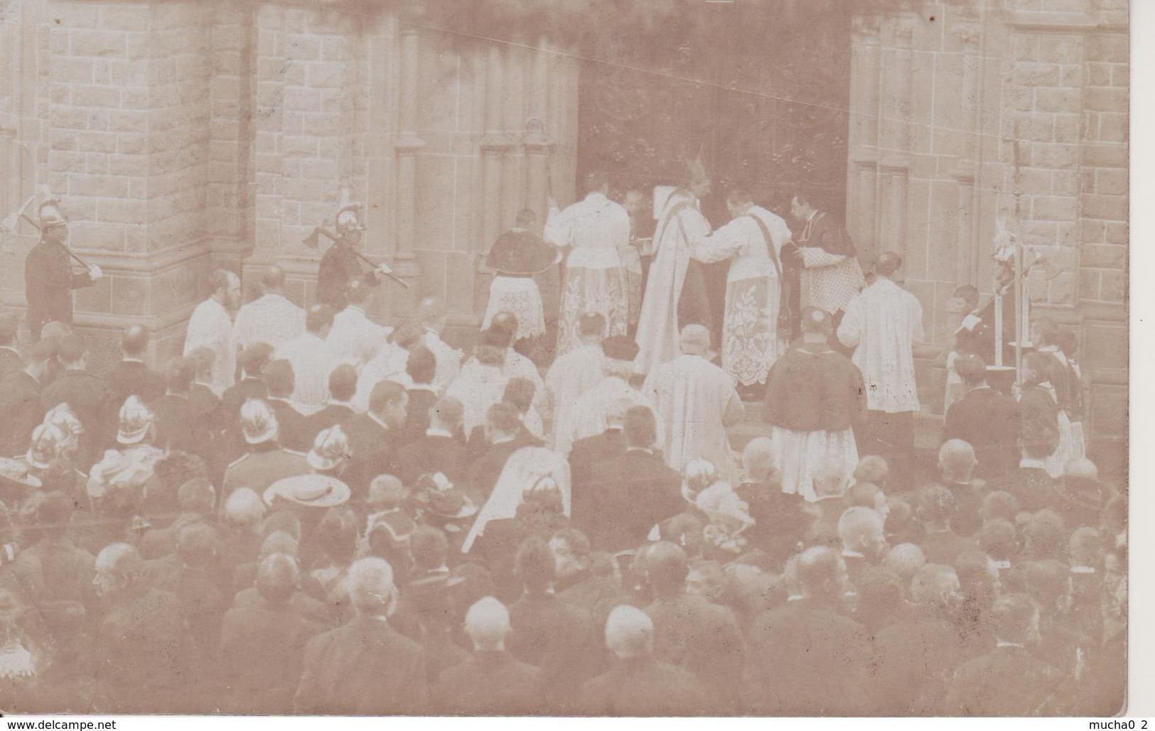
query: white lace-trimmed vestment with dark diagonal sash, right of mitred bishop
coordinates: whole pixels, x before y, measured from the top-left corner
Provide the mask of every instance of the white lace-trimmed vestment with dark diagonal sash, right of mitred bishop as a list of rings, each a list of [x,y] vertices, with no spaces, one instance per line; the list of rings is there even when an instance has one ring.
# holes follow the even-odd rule
[[[766,240],[757,216],[770,234]],[[702,237],[694,259],[711,263],[731,259],[722,322],[722,367],[736,383],[765,383],[780,352],[781,252],[790,240],[785,221],[759,206]],[[770,246],[774,251],[770,251]]]

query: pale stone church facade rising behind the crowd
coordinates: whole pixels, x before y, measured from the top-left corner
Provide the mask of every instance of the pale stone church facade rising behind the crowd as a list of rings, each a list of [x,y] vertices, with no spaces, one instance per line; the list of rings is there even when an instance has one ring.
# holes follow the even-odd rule
[[[713,96],[655,92],[687,140],[676,151],[616,133],[661,121],[629,94],[656,76],[641,61],[614,57],[614,91],[562,40],[491,42],[408,5],[0,3],[2,214],[42,185],[62,199],[72,246],[105,273],[75,297],[105,358],[126,322],[154,333],[158,361],[177,352],[214,267],[249,291],[280,263],[290,296],[312,303],[319,252],[304,240],[331,225],[342,188],[364,204],[365,254],[410,284],[383,285],[378,312],[435,293],[454,325],[474,326],[489,285],[479,256],[520,208],[572,202],[594,164],[623,185],[676,182],[668,161],[709,143],[723,196],[742,185],[787,216],[808,188],[844,215],[864,259],[903,253],[931,341],[927,403],[940,401],[954,286],[991,290],[996,221],[1037,247],[1036,312],[1076,329],[1094,383],[1093,456],[1125,463],[1125,0],[863,2],[837,20],[844,32],[783,54],[803,62],[772,73],[733,57],[691,80]],[[815,54],[820,83],[806,70]],[[695,126],[717,109],[753,109],[761,127],[739,139]],[[24,306],[35,241],[28,224],[5,234],[7,307]]]

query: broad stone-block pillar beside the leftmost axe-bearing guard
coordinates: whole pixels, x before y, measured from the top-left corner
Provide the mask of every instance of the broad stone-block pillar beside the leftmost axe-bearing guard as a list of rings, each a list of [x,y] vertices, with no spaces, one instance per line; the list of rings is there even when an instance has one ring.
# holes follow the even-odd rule
[[[154,364],[179,353],[207,289],[211,18],[191,0],[89,0],[37,21],[51,100],[40,179],[73,219],[72,247],[105,274],[74,298],[98,370],[132,322],[151,331]]]

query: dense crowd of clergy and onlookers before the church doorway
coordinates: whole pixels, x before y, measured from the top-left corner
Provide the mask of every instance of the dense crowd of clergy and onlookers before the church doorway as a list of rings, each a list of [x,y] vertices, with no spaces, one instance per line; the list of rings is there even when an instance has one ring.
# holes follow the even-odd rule
[[[131,326],[99,373],[67,299],[99,273],[66,281],[46,203],[59,306],[22,345],[0,315],[0,710],[1116,713],[1126,492],[1087,458],[1071,334],[1037,319],[1012,383],[998,308],[960,309],[927,469],[901,258],[864,277],[804,196],[797,236],[740,192],[711,232],[708,186],[653,237],[597,174],[544,240],[519,216],[468,352],[439,298],[370,316],[390,273],[343,209],[316,305],[217,270],[181,356],[154,370]]]

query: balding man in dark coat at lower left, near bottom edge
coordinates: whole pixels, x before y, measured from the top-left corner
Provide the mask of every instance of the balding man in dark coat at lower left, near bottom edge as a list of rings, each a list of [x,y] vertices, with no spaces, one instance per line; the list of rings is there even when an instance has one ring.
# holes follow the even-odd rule
[[[180,603],[144,584],[144,561],[124,543],[96,557],[97,591],[107,610],[97,625],[95,656],[111,695],[109,713],[191,713],[182,703],[192,648]],[[203,710],[203,709],[201,709]]]

